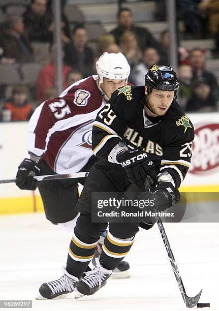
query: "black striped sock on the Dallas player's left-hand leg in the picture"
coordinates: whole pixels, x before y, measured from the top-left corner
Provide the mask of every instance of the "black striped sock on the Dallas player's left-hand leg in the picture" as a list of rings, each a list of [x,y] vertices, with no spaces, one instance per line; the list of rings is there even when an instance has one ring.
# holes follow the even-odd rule
[[[93,258],[97,244],[97,242],[90,244],[84,243],[77,238],[74,232],[69,247],[66,270],[70,274],[80,278]]]

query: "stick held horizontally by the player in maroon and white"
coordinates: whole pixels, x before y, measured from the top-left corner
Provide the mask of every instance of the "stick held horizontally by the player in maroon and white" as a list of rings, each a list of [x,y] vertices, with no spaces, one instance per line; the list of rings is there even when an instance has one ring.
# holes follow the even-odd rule
[[[78,172],[78,173],[72,173],[72,174],[55,174],[55,175],[42,175],[42,176],[34,176],[34,179],[37,179],[38,181],[46,181],[46,180],[55,180],[55,179],[67,179],[67,178],[83,178],[87,177],[89,175],[89,172]],[[11,183],[15,182],[16,179],[1,179],[1,183]]]

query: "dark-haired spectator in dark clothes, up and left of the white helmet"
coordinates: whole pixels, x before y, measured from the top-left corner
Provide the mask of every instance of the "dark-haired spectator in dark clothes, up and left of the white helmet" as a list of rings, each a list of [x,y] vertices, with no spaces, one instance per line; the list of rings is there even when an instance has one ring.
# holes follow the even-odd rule
[[[92,74],[93,52],[86,45],[87,30],[82,25],[75,26],[72,41],[64,46],[64,61],[68,66],[82,73],[83,77]]]

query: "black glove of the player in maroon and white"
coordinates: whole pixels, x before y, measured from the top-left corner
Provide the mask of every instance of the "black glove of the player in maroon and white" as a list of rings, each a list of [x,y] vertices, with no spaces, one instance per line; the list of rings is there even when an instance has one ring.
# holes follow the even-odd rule
[[[25,158],[18,166],[16,185],[22,190],[35,190],[37,188],[37,180],[33,176],[39,175],[39,173],[40,169],[37,163]]]

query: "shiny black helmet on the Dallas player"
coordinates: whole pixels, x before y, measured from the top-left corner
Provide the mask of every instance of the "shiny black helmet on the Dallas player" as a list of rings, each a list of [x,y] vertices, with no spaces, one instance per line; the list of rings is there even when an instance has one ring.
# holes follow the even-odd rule
[[[147,93],[150,95],[152,88],[175,91],[179,88],[178,77],[171,66],[153,65],[145,75]]]

